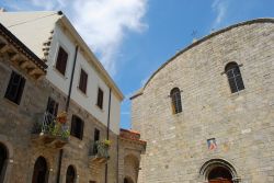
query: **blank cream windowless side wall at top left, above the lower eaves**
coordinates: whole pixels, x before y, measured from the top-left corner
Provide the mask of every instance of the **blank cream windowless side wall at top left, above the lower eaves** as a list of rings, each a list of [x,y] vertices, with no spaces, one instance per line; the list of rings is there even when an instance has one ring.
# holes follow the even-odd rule
[[[0,23],[39,58],[44,57],[42,45],[50,36],[50,31],[59,18],[54,11],[0,12]]]

